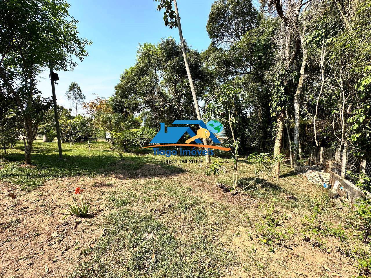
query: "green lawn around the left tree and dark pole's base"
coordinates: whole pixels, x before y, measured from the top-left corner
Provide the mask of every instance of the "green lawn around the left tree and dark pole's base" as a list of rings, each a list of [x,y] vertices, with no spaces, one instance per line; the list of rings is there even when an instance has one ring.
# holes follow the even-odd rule
[[[34,141],[32,164],[35,167],[22,167],[24,163],[24,147],[20,143],[9,149],[6,159],[0,162],[0,179],[14,183],[21,189],[30,191],[42,185],[47,179],[65,178],[68,176],[94,176],[108,172],[120,159],[120,153],[109,149],[105,142],[92,142],[91,151],[86,143],[63,143],[63,160],[59,159],[57,143]],[[140,168],[151,158],[137,158],[125,155],[132,168]]]

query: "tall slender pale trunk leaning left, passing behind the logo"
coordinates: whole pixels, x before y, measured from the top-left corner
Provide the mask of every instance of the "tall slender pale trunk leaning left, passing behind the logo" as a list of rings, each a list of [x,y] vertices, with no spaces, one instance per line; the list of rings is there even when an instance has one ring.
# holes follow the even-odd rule
[[[195,110],[196,110],[197,120],[201,120],[200,106],[198,106],[198,100],[197,100],[196,90],[194,89],[193,79],[192,79],[192,76],[191,76],[191,70],[190,70],[189,64],[188,64],[187,53],[185,51],[185,44],[184,44],[184,39],[183,39],[182,27],[181,27],[181,24],[180,24],[180,17],[179,17],[179,11],[178,11],[178,6],[177,6],[177,0],[174,0],[174,9],[175,9],[175,14],[177,16],[179,38],[180,38],[180,44],[182,46],[182,51],[183,51],[183,58],[184,58],[185,70],[187,71],[189,85],[191,87],[191,92],[192,92],[194,107],[195,107]],[[207,145],[207,140],[206,139],[203,139],[203,143],[204,143],[204,145]],[[208,151],[209,149],[208,148],[205,148],[205,150]],[[210,157],[208,155],[205,156],[206,163],[209,163],[210,162],[209,158]]]

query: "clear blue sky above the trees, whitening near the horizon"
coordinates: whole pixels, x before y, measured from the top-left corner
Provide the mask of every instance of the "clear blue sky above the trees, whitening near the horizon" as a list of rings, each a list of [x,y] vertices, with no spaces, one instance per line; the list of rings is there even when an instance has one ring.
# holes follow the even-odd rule
[[[205,50],[210,44],[206,23],[213,0],[178,0],[184,39],[194,49]],[[174,37],[178,29],[164,25],[163,12],[153,0],[69,0],[70,14],[79,20],[81,37],[92,40],[89,56],[72,72],[58,72],[58,104],[72,107],[65,97],[69,84],[77,82],[86,100],[93,93],[109,97],[125,69],[134,65],[139,43],[157,43]],[[43,73],[38,85],[44,96],[51,95],[49,72]],[[82,112],[82,110],[80,111]]]

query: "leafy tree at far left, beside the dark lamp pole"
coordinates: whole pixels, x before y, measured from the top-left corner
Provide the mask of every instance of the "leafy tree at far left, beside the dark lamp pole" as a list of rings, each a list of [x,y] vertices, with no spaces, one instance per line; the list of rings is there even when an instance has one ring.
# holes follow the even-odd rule
[[[0,81],[14,98],[26,134],[25,164],[31,163],[33,138],[51,100],[40,97],[38,75],[52,62],[69,70],[88,55],[86,39],[78,37],[78,22],[65,0],[4,0],[0,2]]]

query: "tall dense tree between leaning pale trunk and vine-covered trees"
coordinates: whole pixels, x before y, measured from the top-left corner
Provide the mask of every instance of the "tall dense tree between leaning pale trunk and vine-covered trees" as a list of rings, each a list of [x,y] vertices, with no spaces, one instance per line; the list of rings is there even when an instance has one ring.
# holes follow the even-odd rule
[[[278,27],[276,18],[258,13],[250,0],[218,0],[211,6],[207,30],[212,43],[202,55],[205,66],[213,72],[214,83],[234,79],[236,87],[245,92],[250,113],[244,119],[244,113],[240,113],[244,128],[236,130],[243,149],[252,146],[266,150],[272,145],[269,102],[276,55],[272,37],[278,33]],[[218,90],[218,86],[209,91],[207,96],[211,99],[213,90]]]

